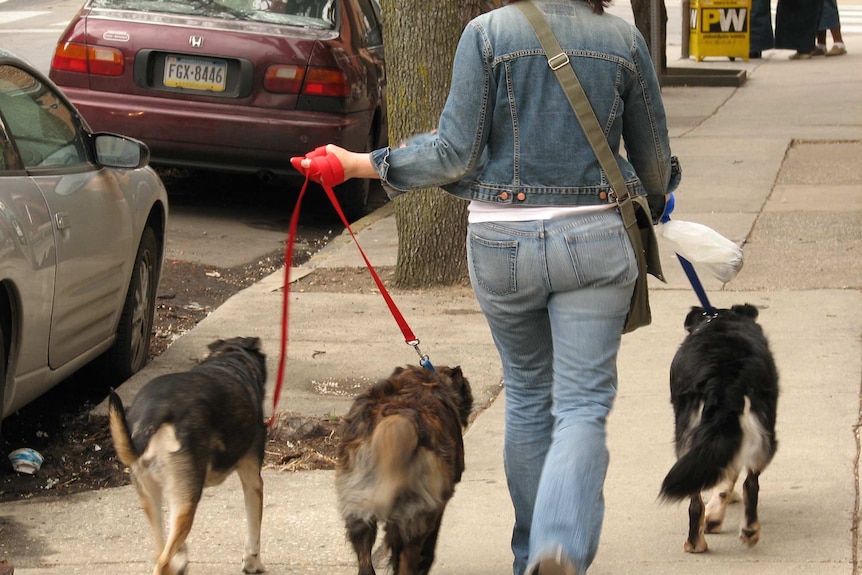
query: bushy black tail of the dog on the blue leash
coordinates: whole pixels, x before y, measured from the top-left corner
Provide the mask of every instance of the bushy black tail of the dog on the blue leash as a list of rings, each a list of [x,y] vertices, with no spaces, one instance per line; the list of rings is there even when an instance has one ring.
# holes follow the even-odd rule
[[[687,432],[688,449],[662,481],[662,499],[685,499],[721,481],[742,448],[741,415],[725,401],[707,400],[699,421]]]

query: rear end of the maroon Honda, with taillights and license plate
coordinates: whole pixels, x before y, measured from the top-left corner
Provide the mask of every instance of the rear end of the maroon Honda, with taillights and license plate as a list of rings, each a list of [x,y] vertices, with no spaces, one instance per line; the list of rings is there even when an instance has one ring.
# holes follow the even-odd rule
[[[144,141],[153,164],[292,173],[291,155],[368,140],[369,96],[351,89],[365,71],[335,30],[85,11],[61,37],[51,76],[94,130]],[[59,61],[68,46],[78,53]],[[273,86],[273,69],[296,78]],[[313,73],[333,70],[333,93],[309,90]]]

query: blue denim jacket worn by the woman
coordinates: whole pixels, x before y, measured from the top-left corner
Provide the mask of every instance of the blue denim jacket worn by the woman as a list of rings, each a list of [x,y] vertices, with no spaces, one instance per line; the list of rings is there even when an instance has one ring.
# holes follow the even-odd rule
[[[656,199],[663,204],[679,170],[675,159],[671,168],[661,89],[643,37],[616,16],[593,13],[583,0],[533,1],[575,67],[630,193],[662,196]],[[621,141],[626,157],[619,154]],[[467,25],[438,129],[406,144],[371,154],[390,197],[439,186],[500,204],[612,201],[607,177],[516,6]]]

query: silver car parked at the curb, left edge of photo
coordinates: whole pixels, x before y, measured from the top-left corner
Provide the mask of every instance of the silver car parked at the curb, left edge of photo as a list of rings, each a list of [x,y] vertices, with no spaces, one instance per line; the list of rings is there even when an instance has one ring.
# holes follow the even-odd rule
[[[147,362],[168,216],[148,161],[0,49],[2,417],[93,360],[113,385]]]

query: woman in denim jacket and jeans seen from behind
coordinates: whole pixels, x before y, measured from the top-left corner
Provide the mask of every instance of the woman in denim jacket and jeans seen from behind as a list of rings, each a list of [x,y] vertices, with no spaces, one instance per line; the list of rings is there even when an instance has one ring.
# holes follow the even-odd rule
[[[435,131],[292,162],[328,185],[343,168],[382,179],[391,197],[440,186],[470,202],[470,277],[506,388],[513,573],[583,575],[602,528],[606,420],[638,270],[608,178],[517,1],[541,10],[629,192],[658,218],[679,180],[661,90],[643,37],[603,0],[516,0],[478,16]]]

